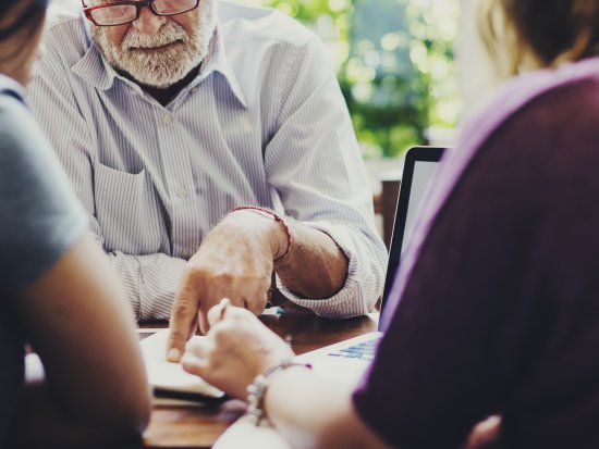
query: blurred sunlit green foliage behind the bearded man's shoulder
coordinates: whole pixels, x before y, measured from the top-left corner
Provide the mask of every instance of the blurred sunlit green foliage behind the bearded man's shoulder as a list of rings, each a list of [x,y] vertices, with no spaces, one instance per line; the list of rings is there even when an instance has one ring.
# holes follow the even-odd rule
[[[261,0],[313,28],[338,78],[366,158],[395,157],[453,127],[457,0]]]

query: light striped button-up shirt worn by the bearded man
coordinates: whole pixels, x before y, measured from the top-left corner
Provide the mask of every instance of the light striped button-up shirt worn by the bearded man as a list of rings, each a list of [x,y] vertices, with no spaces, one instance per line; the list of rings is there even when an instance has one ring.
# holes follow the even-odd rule
[[[58,17],[32,104],[139,320],[167,319],[186,260],[229,210],[259,204],[328,234],[349,258],[319,315],[371,310],[387,252],[334,64],[279,12],[219,2],[197,77],[161,105],[119,75],[81,14]]]

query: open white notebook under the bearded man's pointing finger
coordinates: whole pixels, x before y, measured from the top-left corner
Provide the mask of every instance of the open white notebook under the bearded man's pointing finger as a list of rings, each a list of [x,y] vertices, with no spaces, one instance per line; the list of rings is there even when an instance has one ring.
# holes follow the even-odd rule
[[[167,361],[168,338],[169,329],[161,329],[139,341],[148,382],[154,388],[155,396],[200,402],[223,399],[223,391],[201,377],[185,372],[180,363]]]

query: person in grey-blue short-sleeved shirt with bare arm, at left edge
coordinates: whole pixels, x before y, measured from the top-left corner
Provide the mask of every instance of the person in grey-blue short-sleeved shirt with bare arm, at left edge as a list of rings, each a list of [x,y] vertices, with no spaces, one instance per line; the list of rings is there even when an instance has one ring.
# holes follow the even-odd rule
[[[25,103],[46,3],[0,0],[0,447],[111,447],[139,438],[150,397],[127,301]]]

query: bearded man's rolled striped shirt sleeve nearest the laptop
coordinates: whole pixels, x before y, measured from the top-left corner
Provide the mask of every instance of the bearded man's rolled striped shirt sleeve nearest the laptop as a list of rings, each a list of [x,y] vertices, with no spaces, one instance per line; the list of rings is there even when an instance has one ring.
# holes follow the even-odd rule
[[[374,224],[372,192],[332,58],[317,39],[297,50],[279,127],[265,153],[268,179],[285,213],[329,235],[349,260],[343,288],[306,299],[277,279],[292,302],[344,319],[372,310],[381,295],[387,250]]]

